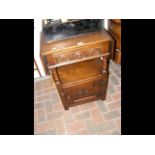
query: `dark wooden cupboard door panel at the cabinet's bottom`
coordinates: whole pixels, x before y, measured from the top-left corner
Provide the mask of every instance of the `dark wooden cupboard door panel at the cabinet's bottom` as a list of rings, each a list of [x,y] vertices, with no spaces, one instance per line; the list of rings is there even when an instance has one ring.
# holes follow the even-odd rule
[[[85,99],[95,95],[95,83],[94,81],[78,84],[64,88],[64,92],[68,101],[68,104],[74,104],[79,99]]]

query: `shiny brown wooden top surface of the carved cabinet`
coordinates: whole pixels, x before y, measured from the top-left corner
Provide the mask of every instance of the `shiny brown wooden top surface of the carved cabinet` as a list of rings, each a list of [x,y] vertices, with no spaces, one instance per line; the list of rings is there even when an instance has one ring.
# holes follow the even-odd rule
[[[97,32],[91,32],[87,34],[77,35],[71,38],[47,43],[43,32],[41,32],[41,40],[40,40],[40,54],[46,55],[48,53],[74,48],[74,47],[82,47],[85,45],[89,45],[92,43],[99,43],[104,41],[112,40],[111,36],[105,29]]]

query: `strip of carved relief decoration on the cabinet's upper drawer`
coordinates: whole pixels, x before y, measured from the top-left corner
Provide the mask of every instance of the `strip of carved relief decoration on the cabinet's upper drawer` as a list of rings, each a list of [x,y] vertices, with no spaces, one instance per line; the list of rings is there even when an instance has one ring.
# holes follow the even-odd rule
[[[91,48],[84,51],[74,51],[66,54],[54,54],[54,62],[62,63],[72,60],[78,60],[86,57],[96,56],[102,54],[102,48]]]

